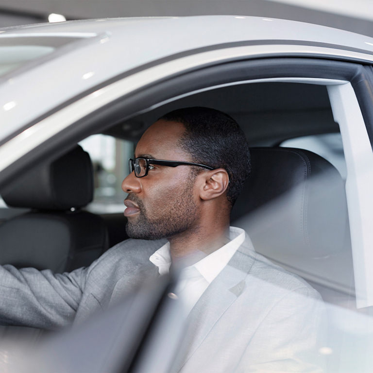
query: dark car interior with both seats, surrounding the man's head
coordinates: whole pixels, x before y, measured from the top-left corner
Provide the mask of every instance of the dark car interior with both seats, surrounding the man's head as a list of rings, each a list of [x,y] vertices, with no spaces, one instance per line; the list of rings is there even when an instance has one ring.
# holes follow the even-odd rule
[[[112,152],[109,166],[98,160],[97,144],[88,146],[82,138],[0,190],[0,264],[71,271],[126,239],[119,186],[128,157],[152,122],[186,106],[231,115],[247,137],[253,171],[234,205],[232,225],[243,227],[256,251],[303,277],[325,301],[356,309],[345,176],[339,170],[343,149],[323,141],[340,137],[324,85],[223,86],[102,126],[91,135],[110,139],[102,148]],[[312,140],[309,148],[304,138]],[[291,147],[284,146],[289,140]],[[326,153],[312,143],[323,143]]]

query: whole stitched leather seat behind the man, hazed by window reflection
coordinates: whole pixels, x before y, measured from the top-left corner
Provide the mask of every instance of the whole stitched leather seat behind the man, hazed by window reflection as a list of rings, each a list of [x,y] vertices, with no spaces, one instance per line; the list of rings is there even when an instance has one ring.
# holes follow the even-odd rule
[[[303,277],[323,299],[354,304],[354,270],[345,184],[320,155],[252,148],[252,174],[233,206],[232,225],[254,249]]]

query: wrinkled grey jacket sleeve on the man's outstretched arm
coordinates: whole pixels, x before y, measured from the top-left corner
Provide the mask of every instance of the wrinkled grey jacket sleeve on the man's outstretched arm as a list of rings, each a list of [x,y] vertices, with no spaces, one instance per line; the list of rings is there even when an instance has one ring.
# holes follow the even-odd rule
[[[54,274],[0,266],[0,324],[55,329],[70,324],[82,298],[88,268]]]

